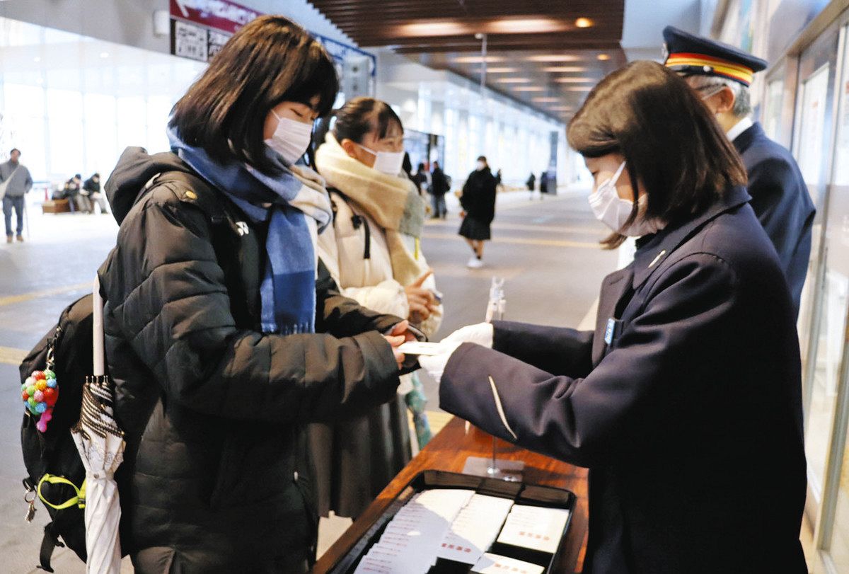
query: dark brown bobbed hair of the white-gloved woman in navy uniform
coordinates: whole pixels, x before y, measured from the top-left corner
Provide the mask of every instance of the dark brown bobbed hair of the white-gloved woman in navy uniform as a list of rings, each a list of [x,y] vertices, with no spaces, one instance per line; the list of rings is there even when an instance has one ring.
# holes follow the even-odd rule
[[[645,216],[666,224],[686,221],[745,185],[745,168],[716,119],[693,88],[665,66],[632,62],[589,93],[566,131],[584,157],[619,153],[631,185],[649,194]],[[628,223],[637,217],[638,204]],[[602,244],[620,245],[614,233]]]

